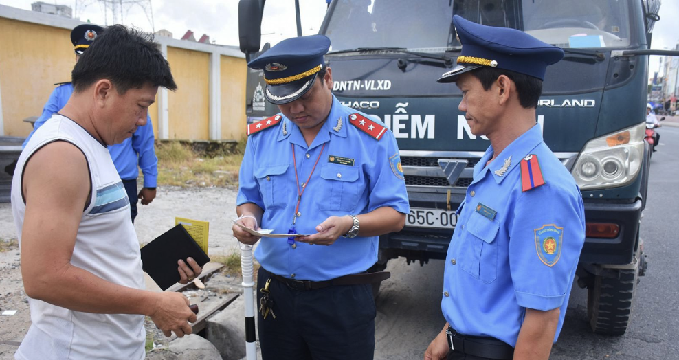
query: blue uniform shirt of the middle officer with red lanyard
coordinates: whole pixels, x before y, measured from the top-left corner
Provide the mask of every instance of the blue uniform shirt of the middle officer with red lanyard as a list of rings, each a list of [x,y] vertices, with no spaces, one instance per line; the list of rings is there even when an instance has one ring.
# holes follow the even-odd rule
[[[364,214],[384,206],[408,213],[408,194],[394,135],[385,129],[381,139],[370,137],[350,124],[351,113],[355,111],[333,96],[328,119],[311,146],[307,146],[298,126],[282,114],[275,126],[250,135],[236,204],[258,205],[264,210],[260,227],[287,234],[298,198],[295,172],[301,186],[319,159],[302,194],[298,234],[315,234],[315,227],[333,215]],[[292,246],[286,238],[262,238],[255,257],[267,271],[286,278],[329,280],[366,271],[375,264],[377,239],[340,237],[330,246],[298,242]]]

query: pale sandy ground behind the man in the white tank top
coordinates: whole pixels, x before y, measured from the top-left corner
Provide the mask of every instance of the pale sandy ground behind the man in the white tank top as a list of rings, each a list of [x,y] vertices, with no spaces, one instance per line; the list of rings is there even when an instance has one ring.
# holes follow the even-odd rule
[[[209,254],[238,251],[230,219],[236,217],[236,190],[227,188],[159,188],[150,205],[139,205],[135,229],[140,243],[148,243],[175,225],[175,216],[210,223]],[[0,360],[14,359],[30,326],[30,311],[21,281],[19,248],[8,246],[16,239],[16,228],[9,203],[0,203]]]

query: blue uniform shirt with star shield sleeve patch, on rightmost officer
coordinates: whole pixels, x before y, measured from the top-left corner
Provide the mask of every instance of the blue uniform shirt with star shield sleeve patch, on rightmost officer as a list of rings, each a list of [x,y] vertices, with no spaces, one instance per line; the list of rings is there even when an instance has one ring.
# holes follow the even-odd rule
[[[532,175],[537,185],[541,171],[544,185],[524,192],[520,162],[527,155],[537,157]],[[486,166],[492,157],[489,147],[458,209],[445,262],[443,315],[459,333],[516,346],[525,308],[561,308],[556,341],[585,240],[581,194],[544,144],[539,125]]]

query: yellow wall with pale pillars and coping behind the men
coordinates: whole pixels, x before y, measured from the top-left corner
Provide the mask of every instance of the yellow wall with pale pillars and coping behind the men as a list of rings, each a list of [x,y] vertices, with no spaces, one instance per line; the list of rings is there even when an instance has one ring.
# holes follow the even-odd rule
[[[75,65],[71,30],[82,22],[0,5],[0,135],[28,135],[57,82]],[[159,89],[149,109],[156,139],[245,137],[245,55],[234,47],[155,36],[177,91]]]

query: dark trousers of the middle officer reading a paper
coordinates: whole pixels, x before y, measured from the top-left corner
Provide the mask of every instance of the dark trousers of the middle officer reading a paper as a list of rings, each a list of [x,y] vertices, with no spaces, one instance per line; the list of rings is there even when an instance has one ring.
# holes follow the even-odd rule
[[[257,306],[268,279],[260,267]],[[269,291],[276,319],[271,313],[257,316],[263,360],[372,360],[376,311],[370,284],[298,291],[271,278]]]

